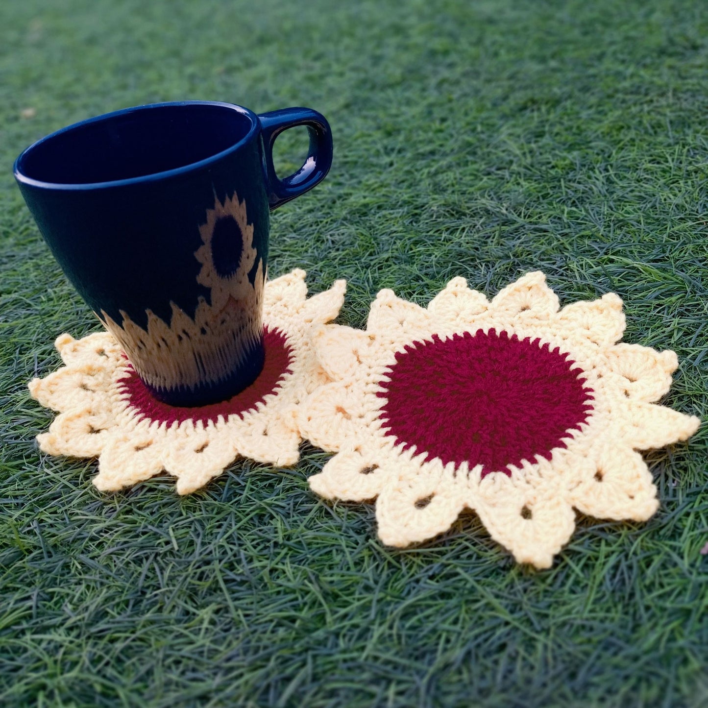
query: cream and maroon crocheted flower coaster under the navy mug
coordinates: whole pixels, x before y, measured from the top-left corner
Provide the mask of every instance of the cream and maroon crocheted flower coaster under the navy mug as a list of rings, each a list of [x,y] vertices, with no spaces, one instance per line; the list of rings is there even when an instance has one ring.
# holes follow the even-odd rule
[[[56,346],[66,366],[29,384],[40,404],[61,411],[38,435],[50,455],[98,457],[93,484],[114,490],[166,470],[187,494],[222,474],[238,455],[278,466],[297,462],[297,405],[329,380],[311,343],[334,319],[346,282],[307,299],[303,270],[266,283],[265,365],[256,382],[223,403],[199,408],[154,399],[108,332]]]

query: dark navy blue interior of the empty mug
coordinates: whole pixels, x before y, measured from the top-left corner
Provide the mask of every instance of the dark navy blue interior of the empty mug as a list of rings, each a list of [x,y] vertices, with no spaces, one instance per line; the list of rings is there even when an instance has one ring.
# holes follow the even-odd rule
[[[17,171],[55,184],[139,178],[215,156],[241,142],[254,127],[249,112],[228,104],[127,108],[45,137],[25,150]]]

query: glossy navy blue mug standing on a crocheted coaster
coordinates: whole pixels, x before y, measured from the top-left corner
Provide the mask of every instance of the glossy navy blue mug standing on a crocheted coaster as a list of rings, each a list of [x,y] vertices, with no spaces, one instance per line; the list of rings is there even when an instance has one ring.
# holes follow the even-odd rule
[[[309,130],[309,156],[281,180],[273,143],[296,125]],[[15,178],[64,273],[152,394],[201,406],[261,372],[269,213],[331,161],[329,125],[314,110],[183,101],[52,133],[18,157]]]

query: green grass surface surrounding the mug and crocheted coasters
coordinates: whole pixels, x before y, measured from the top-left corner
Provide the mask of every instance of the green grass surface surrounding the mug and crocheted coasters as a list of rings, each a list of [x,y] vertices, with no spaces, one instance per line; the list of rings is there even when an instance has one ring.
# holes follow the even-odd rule
[[[708,702],[707,435],[646,454],[648,523],[578,520],[550,571],[474,515],[406,551],[373,508],[241,461],[178,498],[111,496],[42,455],[26,383],[96,321],[11,178],[21,149],[108,110],[309,105],[326,181],[275,212],[270,273],[426,303],[541,269],[617,292],[625,341],[672,348],[665,404],[708,409],[708,8],[698,0],[6,3],[0,26],[0,702],[23,706],[641,706]],[[281,171],[302,135],[279,141]],[[96,234],[101,238],[101,234]]]

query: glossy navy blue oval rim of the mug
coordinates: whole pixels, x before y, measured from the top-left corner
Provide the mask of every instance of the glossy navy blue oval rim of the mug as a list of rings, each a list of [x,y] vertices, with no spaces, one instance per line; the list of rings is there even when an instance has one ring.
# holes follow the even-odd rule
[[[25,157],[32,152],[36,147],[48,142],[59,135],[63,135],[69,131],[72,131],[78,127],[88,125],[93,122],[100,122],[103,120],[108,120],[109,118],[116,118],[119,115],[125,115],[126,113],[133,113],[139,110],[148,110],[150,108],[162,108],[166,106],[181,106],[181,105],[214,105],[220,106],[222,108],[231,108],[236,113],[241,113],[249,118],[251,121],[251,127],[249,132],[244,135],[238,142],[229,145],[226,149],[221,152],[217,152],[205,159],[198,160],[197,162],[190,162],[189,164],[183,165],[181,167],[176,167],[171,170],[163,170],[161,172],[153,172],[147,175],[139,175],[137,177],[128,177],[119,180],[109,180],[104,182],[79,182],[79,183],[59,183],[59,182],[45,182],[32,177],[28,177],[22,171],[22,162]],[[144,103],[143,105],[134,105],[130,108],[121,108],[120,110],[113,110],[110,113],[103,113],[102,115],[96,115],[93,118],[86,118],[85,120],[79,120],[79,122],[72,123],[72,125],[67,125],[66,127],[55,130],[55,132],[45,135],[45,137],[33,142],[29,147],[26,147],[15,160],[13,165],[13,173],[15,179],[26,185],[33,187],[39,187],[44,189],[55,189],[55,190],[93,190],[108,187],[122,187],[124,185],[140,184],[145,182],[153,182],[165,178],[170,178],[173,176],[183,175],[190,173],[192,171],[201,169],[202,167],[212,164],[222,157],[236,152],[240,147],[249,142],[253,135],[258,130],[258,116],[253,113],[249,108],[245,108],[243,105],[236,105],[235,103],[224,103],[222,101],[166,101],[164,103]]]

